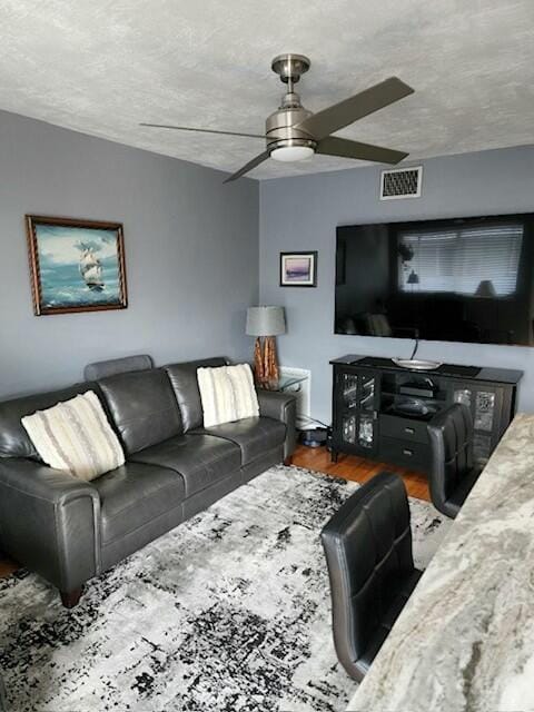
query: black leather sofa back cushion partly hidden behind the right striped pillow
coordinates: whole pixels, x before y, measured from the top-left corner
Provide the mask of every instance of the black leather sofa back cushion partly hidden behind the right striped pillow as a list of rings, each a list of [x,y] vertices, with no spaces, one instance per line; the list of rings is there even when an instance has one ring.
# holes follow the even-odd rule
[[[226,366],[228,359],[224,356],[189,360],[182,364],[169,364],[165,369],[175,390],[176,399],[180,406],[184,431],[192,431],[201,427],[204,422],[202,402],[198,389],[197,368],[217,368]]]

